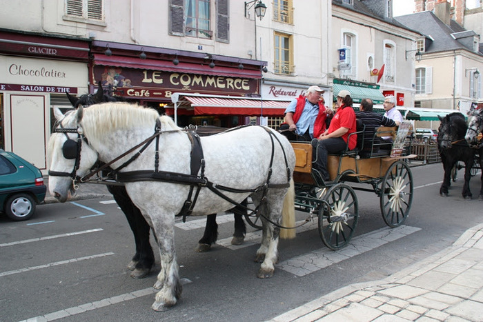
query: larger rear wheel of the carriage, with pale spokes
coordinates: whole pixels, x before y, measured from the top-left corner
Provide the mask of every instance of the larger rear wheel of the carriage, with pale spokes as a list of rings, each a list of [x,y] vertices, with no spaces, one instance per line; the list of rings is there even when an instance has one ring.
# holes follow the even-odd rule
[[[381,186],[382,219],[395,228],[408,217],[413,203],[413,174],[408,165],[397,161],[389,167]]]

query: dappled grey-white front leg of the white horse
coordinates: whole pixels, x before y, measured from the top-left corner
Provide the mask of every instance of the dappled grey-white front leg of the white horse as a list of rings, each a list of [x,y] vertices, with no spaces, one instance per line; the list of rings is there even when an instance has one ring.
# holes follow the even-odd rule
[[[159,290],[151,308],[155,311],[169,310],[177,303],[183,290],[179,281],[179,266],[175,251],[175,216],[155,214],[151,217],[153,230],[157,236],[161,271],[154,288]]]

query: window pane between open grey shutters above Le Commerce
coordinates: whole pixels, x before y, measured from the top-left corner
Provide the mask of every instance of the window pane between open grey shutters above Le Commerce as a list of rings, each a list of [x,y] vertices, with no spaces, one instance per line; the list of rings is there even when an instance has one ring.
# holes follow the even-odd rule
[[[210,0],[186,0],[185,34],[188,37],[211,38]]]

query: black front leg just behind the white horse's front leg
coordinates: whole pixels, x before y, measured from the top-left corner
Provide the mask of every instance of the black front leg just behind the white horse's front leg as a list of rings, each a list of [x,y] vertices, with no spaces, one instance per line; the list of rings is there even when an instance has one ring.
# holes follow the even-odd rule
[[[150,227],[141,211],[132,203],[124,186],[108,185],[108,191],[124,212],[132,234],[134,234],[136,253],[128,264],[128,269],[132,270],[130,276],[133,279],[142,279],[149,274],[155,264],[155,254],[149,243]]]

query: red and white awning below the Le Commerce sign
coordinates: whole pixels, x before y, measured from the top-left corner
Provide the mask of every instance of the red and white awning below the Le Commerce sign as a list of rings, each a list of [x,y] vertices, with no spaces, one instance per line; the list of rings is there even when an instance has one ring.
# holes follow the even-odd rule
[[[283,117],[288,101],[262,101],[252,98],[184,97],[195,115],[244,115]]]

